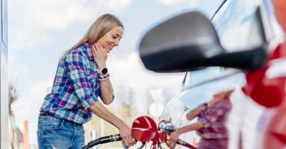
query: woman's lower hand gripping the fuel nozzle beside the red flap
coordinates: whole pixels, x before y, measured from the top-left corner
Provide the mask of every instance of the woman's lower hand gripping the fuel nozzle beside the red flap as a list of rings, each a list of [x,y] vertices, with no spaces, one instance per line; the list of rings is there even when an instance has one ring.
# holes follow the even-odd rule
[[[127,147],[137,143],[137,140],[132,136],[131,128],[127,124],[124,123],[123,126],[119,127],[119,134]]]

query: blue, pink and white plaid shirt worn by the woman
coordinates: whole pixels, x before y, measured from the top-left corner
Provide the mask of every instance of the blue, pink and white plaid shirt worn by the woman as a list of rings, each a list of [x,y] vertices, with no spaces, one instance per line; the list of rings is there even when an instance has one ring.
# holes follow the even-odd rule
[[[101,97],[97,66],[86,43],[60,59],[53,89],[45,97],[40,112],[83,124],[92,118],[88,108],[98,101],[98,96]]]

